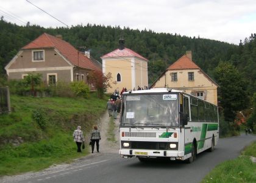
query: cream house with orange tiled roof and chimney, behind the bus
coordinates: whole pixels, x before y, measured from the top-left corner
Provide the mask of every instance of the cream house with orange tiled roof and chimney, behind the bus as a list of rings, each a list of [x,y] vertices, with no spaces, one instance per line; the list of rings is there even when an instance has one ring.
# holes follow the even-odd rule
[[[152,84],[151,88],[178,89],[197,96],[215,105],[218,104],[219,85],[192,61],[192,52],[187,51]]]

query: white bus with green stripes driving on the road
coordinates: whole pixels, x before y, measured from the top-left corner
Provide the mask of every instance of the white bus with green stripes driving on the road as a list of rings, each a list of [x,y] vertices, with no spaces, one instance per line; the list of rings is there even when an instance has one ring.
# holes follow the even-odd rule
[[[169,88],[123,94],[121,157],[193,162],[196,154],[213,151],[218,139],[218,107],[212,103]]]

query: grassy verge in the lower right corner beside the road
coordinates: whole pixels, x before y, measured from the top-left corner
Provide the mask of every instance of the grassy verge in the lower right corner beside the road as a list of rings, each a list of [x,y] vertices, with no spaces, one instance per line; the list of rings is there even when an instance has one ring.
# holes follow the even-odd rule
[[[216,166],[203,182],[256,182],[256,164],[250,156],[256,157],[256,142],[246,147],[243,156]]]

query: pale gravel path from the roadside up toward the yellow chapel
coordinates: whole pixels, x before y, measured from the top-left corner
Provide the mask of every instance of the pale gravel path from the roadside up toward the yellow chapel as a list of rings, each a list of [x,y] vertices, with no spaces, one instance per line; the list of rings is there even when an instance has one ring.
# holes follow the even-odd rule
[[[19,181],[23,181],[26,179],[29,179],[31,177],[35,177],[38,176],[40,174],[48,174],[51,173],[53,171],[61,171],[61,170],[65,170],[66,168],[70,168],[70,167],[74,167],[76,165],[79,164],[83,164],[84,161],[88,161],[88,159],[93,159],[97,156],[102,156],[104,154],[108,154],[108,153],[116,153],[118,155],[118,150],[119,150],[119,114],[118,114],[118,119],[115,119],[115,139],[116,142],[109,142],[107,140],[107,136],[108,136],[108,126],[110,123],[110,117],[108,116],[108,112],[106,111],[103,116],[100,117],[100,119],[98,120],[98,128],[101,131],[101,139],[99,141],[99,151],[100,153],[93,153],[93,154],[88,154],[87,156],[84,157],[80,157],[79,159],[75,159],[74,162],[72,162],[71,164],[60,164],[60,165],[52,165],[49,168],[46,168],[45,170],[42,171],[38,171],[38,172],[28,172],[28,173],[24,173],[24,174],[19,174],[16,176],[4,176],[2,178],[0,178],[0,182],[1,183],[7,183],[7,182],[19,182]],[[86,134],[85,139],[87,139],[87,147],[88,147],[88,142],[90,140],[90,136],[89,134]],[[91,152],[91,147],[88,147],[89,152]],[[96,145],[94,147],[94,151],[96,151]]]

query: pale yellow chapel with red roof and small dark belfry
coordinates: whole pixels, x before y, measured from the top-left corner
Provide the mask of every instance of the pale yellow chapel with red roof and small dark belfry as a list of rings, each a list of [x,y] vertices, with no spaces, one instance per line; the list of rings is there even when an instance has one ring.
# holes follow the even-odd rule
[[[102,59],[103,74],[112,74],[107,92],[121,92],[123,88],[133,90],[148,87],[148,59],[124,47],[124,39],[119,39],[118,49],[105,54]]]

